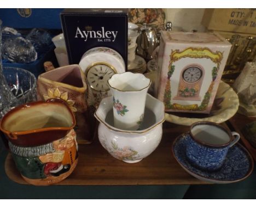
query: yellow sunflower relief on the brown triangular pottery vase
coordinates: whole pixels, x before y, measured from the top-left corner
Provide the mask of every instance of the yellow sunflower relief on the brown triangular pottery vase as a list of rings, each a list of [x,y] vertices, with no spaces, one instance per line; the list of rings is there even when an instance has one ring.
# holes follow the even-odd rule
[[[74,107],[74,100],[68,100],[68,92],[65,91],[65,93],[61,93],[61,91],[58,88],[49,88],[47,90],[47,95],[44,95],[44,100],[48,100],[51,98],[60,98],[63,101],[66,101],[66,103],[68,104],[69,108],[71,109],[71,111],[73,112],[77,112],[77,108]]]

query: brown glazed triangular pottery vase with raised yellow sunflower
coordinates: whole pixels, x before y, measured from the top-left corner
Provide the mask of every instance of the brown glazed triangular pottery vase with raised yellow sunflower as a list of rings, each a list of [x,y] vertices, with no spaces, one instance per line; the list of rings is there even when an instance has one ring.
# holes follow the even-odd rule
[[[59,98],[65,101],[75,114],[77,141],[92,142],[95,119],[89,112],[85,75],[77,64],[62,66],[45,72],[37,81],[38,100]]]

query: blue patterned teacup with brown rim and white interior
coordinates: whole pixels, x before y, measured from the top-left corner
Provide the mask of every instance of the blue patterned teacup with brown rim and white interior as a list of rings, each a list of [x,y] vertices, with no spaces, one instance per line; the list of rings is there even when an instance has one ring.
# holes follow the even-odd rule
[[[189,134],[186,148],[188,160],[195,167],[209,171],[222,167],[229,148],[240,139],[237,132],[230,132],[208,121],[191,125]]]

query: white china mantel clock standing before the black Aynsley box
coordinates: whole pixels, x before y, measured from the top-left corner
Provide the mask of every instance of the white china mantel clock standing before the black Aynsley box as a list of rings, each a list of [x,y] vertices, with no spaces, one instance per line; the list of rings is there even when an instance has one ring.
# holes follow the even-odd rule
[[[125,72],[124,59],[108,47],[91,48],[84,53],[79,65],[88,83],[89,103],[96,107],[104,97],[111,95],[108,79],[114,74]]]

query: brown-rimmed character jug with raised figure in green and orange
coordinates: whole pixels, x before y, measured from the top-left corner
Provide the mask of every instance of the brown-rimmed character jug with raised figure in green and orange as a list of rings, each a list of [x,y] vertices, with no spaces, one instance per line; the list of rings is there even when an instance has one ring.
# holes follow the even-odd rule
[[[74,114],[61,99],[18,106],[0,122],[16,167],[33,185],[50,185],[73,172],[78,162],[74,126]]]

